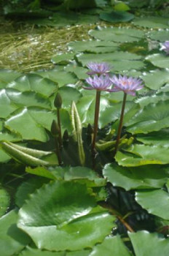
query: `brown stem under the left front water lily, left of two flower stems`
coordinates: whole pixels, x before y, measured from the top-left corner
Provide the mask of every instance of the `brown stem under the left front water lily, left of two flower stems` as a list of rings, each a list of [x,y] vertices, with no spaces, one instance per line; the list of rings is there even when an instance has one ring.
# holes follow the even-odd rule
[[[94,130],[93,130],[93,143],[92,143],[92,151],[95,152],[95,140],[98,132],[98,116],[99,116],[99,108],[100,108],[100,98],[101,91],[96,91],[95,96],[95,120],[94,120]]]

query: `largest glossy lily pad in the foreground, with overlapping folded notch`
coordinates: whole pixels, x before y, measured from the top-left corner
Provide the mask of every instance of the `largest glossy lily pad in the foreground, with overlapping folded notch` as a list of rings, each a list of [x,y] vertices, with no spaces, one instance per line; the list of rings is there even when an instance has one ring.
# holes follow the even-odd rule
[[[114,217],[92,213],[95,197],[82,184],[55,181],[36,190],[20,209],[18,226],[39,249],[78,250],[93,246],[111,232]]]

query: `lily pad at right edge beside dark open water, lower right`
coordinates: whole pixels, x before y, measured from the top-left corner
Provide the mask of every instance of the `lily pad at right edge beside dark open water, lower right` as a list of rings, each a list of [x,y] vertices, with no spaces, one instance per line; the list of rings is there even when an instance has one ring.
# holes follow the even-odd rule
[[[162,189],[139,191],[135,193],[135,200],[149,212],[162,219],[169,219],[169,195]]]

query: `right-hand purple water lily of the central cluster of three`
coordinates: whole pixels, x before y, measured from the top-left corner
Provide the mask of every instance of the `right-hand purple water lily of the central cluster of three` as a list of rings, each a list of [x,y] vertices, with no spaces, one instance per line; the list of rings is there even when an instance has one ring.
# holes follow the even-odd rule
[[[125,94],[130,94],[135,96],[135,91],[141,90],[144,85],[141,84],[142,80],[139,78],[127,78],[127,76],[119,75],[119,78],[114,75],[112,78],[109,78],[114,84],[114,88],[111,91],[124,91]]]

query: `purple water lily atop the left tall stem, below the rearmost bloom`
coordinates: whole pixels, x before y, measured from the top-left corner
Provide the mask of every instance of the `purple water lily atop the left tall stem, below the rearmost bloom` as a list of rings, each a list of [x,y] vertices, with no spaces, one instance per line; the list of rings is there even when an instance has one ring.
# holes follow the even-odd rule
[[[90,87],[84,87],[87,90],[97,90],[97,91],[112,91],[113,89],[109,89],[112,85],[111,80],[109,79],[109,75],[94,75],[93,78],[89,77],[86,79],[86,82],[90,85]]]

